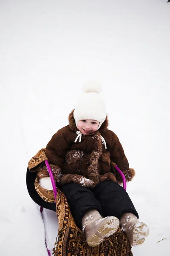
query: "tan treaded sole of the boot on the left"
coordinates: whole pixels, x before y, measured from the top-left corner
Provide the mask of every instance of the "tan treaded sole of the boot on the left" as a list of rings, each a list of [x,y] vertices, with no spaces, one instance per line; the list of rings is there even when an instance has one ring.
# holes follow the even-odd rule
[[[94,247],[102,243],[105,237],[113,235],[119,228],[119,219],[113,216],[103,218],[97,221],[96,232],[89,235],[90,237],[87,240],[88,245]]]

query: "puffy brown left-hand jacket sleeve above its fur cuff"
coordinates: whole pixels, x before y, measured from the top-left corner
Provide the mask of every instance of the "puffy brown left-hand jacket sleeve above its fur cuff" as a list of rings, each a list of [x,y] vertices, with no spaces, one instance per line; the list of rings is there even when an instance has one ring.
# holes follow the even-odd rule
[[[62,169],[68,149],[69,146],[64,137],[63,130],[60,129],[53,135],[46,146],[46,156],[48,157],[49,163]]]

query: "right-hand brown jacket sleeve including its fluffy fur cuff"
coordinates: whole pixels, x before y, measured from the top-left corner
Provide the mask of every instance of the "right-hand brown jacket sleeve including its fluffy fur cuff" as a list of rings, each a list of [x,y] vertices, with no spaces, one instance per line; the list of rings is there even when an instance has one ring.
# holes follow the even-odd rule
[[[112,142],[109,148],[111,154],[111,161],[124,173],[126,181],[131,181],[135,175],[135,170],[130,168],[125,152],[119,138],[112,132]],[[119,175],[118,175],[119,176]]]

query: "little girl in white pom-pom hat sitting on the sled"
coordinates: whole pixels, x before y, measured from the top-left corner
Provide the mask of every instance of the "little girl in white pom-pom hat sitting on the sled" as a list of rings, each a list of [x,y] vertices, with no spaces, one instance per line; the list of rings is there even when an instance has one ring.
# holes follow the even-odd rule
[[[108,130],[105,103],[94,84],[84,87],[75,109],[68,117],[69,125],[53,135],[46,146],[57,187],[65,194],[77,226],[85,231],[90,246],[105,237],[125,231],[132,246],[142,244],[149,234],[127,192],[119,183],[117,165],[131,181],[135,175],[118,137]],[[41,167],[39,177],[48,176]]]

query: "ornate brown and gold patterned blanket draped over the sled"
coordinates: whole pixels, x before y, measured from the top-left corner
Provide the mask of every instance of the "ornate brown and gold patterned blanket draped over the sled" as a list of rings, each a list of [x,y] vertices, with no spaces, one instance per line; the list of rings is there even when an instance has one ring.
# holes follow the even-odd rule
[[[34,171],[37,171],[38,165],[44,164],[44,160],[48,160],[44,148],[41,152],[43,155],[39,151],[29,161],[29,167],[34,168]],[[53,191],[43,189],[38,177],[35,180],[35,188],[45,201],[55,202]],[[105,238],[101,244],[90,247],[85,241],[85,234],[76,226],[65,195],[59,189],[57,189],[56,205],[59,230],[53,249],[54,256],[133,256],[127,236],[120,227],[116,233]]]

